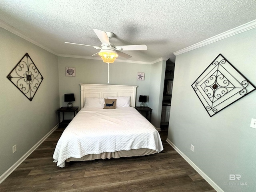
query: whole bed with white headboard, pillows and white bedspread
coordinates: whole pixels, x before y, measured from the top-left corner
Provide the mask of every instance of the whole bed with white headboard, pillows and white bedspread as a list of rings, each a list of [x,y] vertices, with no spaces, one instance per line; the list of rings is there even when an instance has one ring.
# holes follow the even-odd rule
[[[134,107],[137,86],[80,84],[81,110],[54,150],[65,162],[144,156],[163,150],[156,128]]]

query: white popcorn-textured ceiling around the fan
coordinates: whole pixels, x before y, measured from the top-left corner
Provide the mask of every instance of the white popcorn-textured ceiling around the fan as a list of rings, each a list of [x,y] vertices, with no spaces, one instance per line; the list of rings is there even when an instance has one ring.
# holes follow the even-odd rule
[[[256,0],[1,0],[0,20],[55,54],[92,56],[100,46],[93,29],[115,34],[114,45],[152,62],[256,19]],[[95,55],[94,57],[98,57]],[[124,58],[118,58],[124,60]]]

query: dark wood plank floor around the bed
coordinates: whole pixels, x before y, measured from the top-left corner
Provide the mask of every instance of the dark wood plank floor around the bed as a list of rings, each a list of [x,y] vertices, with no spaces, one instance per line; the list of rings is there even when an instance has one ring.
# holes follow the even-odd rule
[[[63,128],[56,129],[0,184],[1,192],[215,192],[165,141],[164,151],[132,158],[53,163]]]

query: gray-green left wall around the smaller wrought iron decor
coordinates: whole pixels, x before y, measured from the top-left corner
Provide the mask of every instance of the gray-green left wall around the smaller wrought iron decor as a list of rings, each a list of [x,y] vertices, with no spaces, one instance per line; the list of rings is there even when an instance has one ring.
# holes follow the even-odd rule
[[[0,28],[0,175],[57,124],[58,57]],[[6,76],[28,52],[44,77],[30,102]],[[12,146],[17,151],[12,153]]]

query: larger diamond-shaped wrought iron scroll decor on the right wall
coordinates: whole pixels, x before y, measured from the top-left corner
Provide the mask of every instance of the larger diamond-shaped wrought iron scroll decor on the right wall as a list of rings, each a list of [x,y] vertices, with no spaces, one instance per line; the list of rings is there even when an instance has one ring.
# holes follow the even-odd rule
[[[222,54],[202,72],[192,88],[210,116],[256,89]]]

